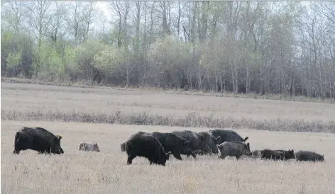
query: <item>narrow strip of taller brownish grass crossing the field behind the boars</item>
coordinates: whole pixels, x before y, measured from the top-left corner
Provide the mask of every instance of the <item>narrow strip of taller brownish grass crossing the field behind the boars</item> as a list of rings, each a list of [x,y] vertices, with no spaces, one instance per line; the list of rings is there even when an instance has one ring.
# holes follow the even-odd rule
[[[167,125],[178,127],[209,127],[209,128],[249,128],[252,130],[286,131],[286,132],[331,132],[335,133],[335,122],[322,122],[321,120],[252,120],[247,118],[221,117],[215,118],[214,114],[199,115],[191,112],[185,117],[175,118],[172,115],[140,113],[121,113],[115,110],[107,113],[84,113],[72,111],[62,113],[59,110],[49,110],[42,113],[40,110],[1,110],[2,120],[43,120],[55,122],[92,122],[123,125]]]

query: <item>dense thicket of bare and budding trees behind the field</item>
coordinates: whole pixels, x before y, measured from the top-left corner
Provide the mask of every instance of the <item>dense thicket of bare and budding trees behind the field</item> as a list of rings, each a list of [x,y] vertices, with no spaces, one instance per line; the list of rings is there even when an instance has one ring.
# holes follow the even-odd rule
[[[334,99],[335,2],[97,4],[1,2],[1,76]]]

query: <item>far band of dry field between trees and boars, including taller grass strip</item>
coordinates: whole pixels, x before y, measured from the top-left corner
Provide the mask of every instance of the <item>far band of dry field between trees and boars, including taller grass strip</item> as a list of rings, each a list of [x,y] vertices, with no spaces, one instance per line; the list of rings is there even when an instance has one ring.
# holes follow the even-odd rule
[[[334,132],[335,105],[1,83],[1,118]]]

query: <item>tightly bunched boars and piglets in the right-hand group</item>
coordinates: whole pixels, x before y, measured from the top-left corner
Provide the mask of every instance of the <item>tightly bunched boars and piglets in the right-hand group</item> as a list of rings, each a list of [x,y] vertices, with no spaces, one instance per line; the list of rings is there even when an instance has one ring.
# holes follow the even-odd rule
[[[315,152],[294,150],[272,150],[262,149],[251,152],[250,144],[246,143],[248,137],[244,139],[233,130],[209,130],[208,132],[192,132],[190,130],[173,132],[137,132],[126,142],[121,144],[121,152],[128,155],[127,164],[132,164],[136,156],[143,156],[150,161],[150,164],[165,163],[170,159],[170,154],[176,159],[182,160],[180,154],[193,156],[203,154],[219,154],[219,159],[225,159],[226,156],[235,156],[240,159],[241,156],[296,161],[324,161],[324,155]]]

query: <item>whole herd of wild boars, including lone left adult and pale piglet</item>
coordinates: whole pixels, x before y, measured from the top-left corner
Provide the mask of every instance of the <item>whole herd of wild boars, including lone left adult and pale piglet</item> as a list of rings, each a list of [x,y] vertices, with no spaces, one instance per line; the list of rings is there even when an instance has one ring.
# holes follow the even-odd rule
[[[53,133],[42,127],[22,127],[16,132],[13,154],[19,154],[21,150],[32,149],[39,154],[64,154],[60,146],[61,135]],[[219,154],[219,159],[226,156],[241,156],[296,161],[324,161],[324,155],[316,152],[294,150],[256,149],[251,152],[250,144],[246,143],[248,137],[242,138],[233,130],[209,130],[207,132],[192,132],[190,130],[173,132],[136,132],[126,142],[121,144],[121,152],[126,152],[127,164],[132,164],[136,156],[145,157],[150,164],[165,166],[170,155],[182,160],[181,155],[192,156]],[[100,152],[97,143],[81,142],[79,151]]]

